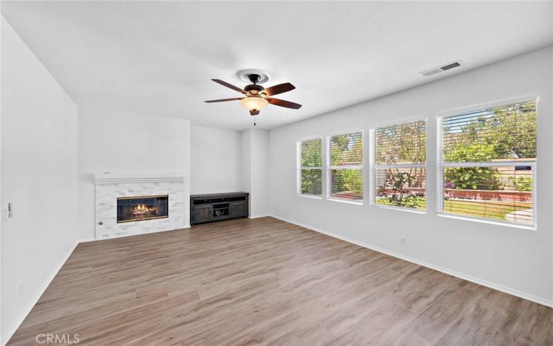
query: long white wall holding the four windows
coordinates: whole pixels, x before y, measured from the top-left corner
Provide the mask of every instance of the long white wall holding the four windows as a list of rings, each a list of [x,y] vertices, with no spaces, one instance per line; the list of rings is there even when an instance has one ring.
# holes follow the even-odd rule
[[[270,133],[272,215],[333,233],[497,289],[553,304],[552,257],[552,61],[553,49],[528,53],[438,82]],[[435,212],[436,113],[525,95],[538,95],[537,230],[438,217]],[[308,105],[306,105],[308,107]],[[428,210],[426,215],[365,203],[299,197],[296,141],[402,118],[427,118]],[[368,172],[364,174],[367,185]],[[368,191],[366,188],[365,191]],[[400,237],[406,236],[406,245]]]

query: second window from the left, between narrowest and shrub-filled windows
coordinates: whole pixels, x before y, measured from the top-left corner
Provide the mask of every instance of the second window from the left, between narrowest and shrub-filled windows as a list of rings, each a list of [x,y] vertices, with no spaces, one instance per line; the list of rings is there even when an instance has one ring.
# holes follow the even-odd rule
[[[331,136],[328,145],[328,197],[362,201],[363,132]]]

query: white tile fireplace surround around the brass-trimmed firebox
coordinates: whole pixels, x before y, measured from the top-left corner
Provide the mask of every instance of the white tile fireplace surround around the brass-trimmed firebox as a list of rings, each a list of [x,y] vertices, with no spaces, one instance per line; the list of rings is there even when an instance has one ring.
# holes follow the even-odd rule
[[[185,220],[185,177],[178,173],[115,174],[97,173],[95,183],[95,238],[176,230],[187,227]],[[169,217],[118,224],[118,197],[169,196]]]

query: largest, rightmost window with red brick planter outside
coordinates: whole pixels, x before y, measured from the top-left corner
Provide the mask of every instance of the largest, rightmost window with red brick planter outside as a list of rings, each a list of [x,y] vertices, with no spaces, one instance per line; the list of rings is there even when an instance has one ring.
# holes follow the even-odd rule
[[[438,212],[534,225],[535,101],[438,118],[438,131]]]

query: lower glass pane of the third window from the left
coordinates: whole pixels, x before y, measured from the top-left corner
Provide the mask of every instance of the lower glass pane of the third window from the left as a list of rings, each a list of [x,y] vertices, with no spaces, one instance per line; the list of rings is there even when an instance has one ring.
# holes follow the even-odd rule
[[[377,168],[376,203],[425,210],[427,171],[424,167]]]

